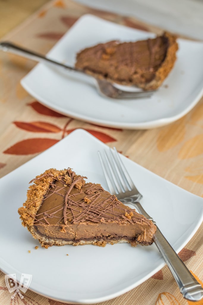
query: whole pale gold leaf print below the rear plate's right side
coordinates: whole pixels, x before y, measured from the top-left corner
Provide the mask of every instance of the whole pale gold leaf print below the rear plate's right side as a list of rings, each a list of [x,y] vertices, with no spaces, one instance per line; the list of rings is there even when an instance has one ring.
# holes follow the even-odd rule
[[[185,120],[180,119],[177,122],[161,128],[157,137],[157,149],[164,152],[178,145],[183,141],[185,135]]]

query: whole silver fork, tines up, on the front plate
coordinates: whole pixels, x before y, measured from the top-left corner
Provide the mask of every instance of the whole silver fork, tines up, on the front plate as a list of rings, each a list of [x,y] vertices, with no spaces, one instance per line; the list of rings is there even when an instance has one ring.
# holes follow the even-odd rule
[[[139,213],[156,225],[156,222],[145,212],[139,203],[142,195],[138,192],[130,178],[116,148],[114,147],[114,152],[110,149],[109,156],[105,150],[104,156],[100,152],[98,152],[98,155],[110,192],[116,195],[121,202],[133,204]],[[201,300],[203,298],[201,285],[184,265],[158,227],[156,233],[153,235],[153,240],[163,255],[184,298],[191,301]]]

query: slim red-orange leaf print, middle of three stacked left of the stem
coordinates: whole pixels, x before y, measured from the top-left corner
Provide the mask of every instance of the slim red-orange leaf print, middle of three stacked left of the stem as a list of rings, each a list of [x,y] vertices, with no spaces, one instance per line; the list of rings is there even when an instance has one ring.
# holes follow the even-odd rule
[[[13,122],[17,127],[32,132],[60,132],[61,128],[46,122]]]

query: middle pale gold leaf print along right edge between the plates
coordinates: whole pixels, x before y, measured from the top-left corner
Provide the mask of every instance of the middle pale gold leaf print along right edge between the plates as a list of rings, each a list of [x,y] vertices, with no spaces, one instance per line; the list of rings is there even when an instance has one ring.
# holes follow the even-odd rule
[[[203,134],[187,140],[179,151],[179,159],[188,159],[203,153]]]

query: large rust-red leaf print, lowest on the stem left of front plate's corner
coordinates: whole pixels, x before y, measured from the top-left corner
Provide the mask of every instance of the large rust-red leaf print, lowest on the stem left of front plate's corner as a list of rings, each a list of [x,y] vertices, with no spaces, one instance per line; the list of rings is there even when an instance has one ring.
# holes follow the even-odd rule
[[[26,139],[9,147],[4,151],[4,153],[11,155],[30,155],[37,152],[42,152],[56,144],[58,141],[59,140],[46,138]]]

